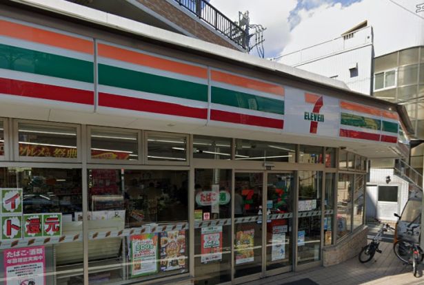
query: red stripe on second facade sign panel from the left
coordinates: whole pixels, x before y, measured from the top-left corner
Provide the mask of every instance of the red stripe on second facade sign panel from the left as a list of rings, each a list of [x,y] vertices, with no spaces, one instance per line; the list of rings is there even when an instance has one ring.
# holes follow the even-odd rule
[[[208,118],[208,109],[108,93],[99,93],[99,106],[190,118]]]

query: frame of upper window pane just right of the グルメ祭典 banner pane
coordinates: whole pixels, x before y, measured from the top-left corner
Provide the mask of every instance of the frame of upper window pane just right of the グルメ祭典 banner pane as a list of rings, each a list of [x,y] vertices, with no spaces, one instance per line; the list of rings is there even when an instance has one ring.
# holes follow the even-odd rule
[[[105,131],[127,131],[129,133],[137,134],[137,151],[139,151],[139,158],[137,160],[110,160],[110,159],[101,159],[101,158],[92,158],[91,157],[91,131],[92,129],[105,130]],[[87,162],[88,163],[101,163],[101,164],[111,164],[111,165],[141,165],[143,164],[143,147],[142,147],[142,131],[137,129],[120,129],[116,127],[97,127],[97,126],[87,126]]]

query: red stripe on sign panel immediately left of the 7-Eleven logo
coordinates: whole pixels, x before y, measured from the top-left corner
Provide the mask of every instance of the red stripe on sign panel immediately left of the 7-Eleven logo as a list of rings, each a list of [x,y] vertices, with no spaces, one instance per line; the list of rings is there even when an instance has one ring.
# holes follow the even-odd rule
[[[252,125],[258,127],[272,127],[274,129],[283,129],[284,127],[284,120],[225,112],[221,110],[210,110],[210,119],[227,123]]]

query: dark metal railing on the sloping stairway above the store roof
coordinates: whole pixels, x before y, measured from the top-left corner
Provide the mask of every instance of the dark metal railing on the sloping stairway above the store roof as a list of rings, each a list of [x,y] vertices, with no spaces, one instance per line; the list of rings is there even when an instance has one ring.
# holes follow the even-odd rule
[[[245,30],[243,30],[239,25],[236,25],[223,13],[219,12],[214,6],[210,5],[205,0],[174,0],[179,3],[180,6],[189,10],[196,17],[199,17],[205,23],[211,25],[215,30],[221,32],[231,41],[234,41],[240,47],[247,50],[247,36]]]

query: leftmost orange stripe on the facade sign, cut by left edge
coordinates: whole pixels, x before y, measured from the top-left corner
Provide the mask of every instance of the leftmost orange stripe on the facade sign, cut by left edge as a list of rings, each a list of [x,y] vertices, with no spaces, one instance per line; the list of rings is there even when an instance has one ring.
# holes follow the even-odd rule
[[[86,39],[79,39],[74,36],[3,20],[0,20],[0,27],[0,35],[2,36],[10,36],[11,38],[32,41],[34,43],[43,43],[67,50],[74,50],[75,52],[84,52],[85,54],[94,54],[92,41]]]

